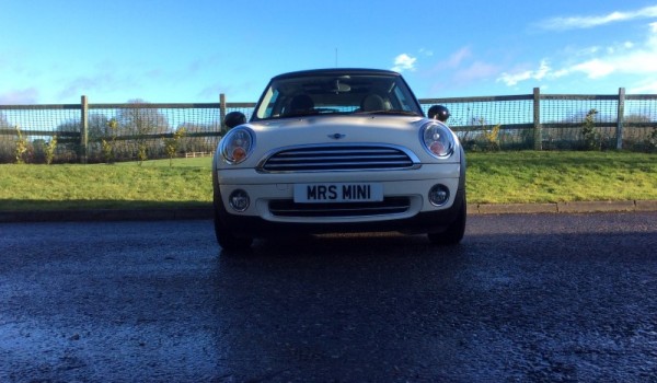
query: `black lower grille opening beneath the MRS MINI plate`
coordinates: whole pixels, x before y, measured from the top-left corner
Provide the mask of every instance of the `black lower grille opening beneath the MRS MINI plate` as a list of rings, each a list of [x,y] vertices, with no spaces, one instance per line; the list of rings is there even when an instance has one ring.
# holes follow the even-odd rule
[[[387,197],[381,202],[296,204],[291,199],[269,201],[276,217],[372,217],[403,213],[411,207],[408,197]]]

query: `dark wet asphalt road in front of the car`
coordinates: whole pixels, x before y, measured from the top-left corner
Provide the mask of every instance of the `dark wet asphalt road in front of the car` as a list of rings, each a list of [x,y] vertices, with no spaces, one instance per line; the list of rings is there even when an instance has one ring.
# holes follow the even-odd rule
[[[657,212],[221,253],[211,222],[0,224],[0,382],[649,382]]]

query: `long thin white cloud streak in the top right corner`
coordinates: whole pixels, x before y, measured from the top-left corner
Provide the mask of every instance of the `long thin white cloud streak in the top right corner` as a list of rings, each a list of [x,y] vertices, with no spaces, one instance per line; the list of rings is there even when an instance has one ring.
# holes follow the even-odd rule
[[[544,30],[554,31],[583,30],[615,22],[650,18],[657,18],[657,5],[629,12],[611,12],[603,15],[553,18],[540,22],[539,26]]]

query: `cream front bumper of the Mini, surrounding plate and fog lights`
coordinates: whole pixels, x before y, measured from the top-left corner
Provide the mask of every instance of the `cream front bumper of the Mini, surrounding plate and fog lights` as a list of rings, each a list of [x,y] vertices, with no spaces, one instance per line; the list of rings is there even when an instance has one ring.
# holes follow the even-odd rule
[[[464,167],[464,166],[463,166]],[[364,172],[350,174],[255,174],[253,170],[221,170],[215,176],[217,219],[239,236],[269,236],[286,233],[330,233],[400,231],[405,233],[440,232],[457,218],[464,204],[464,169],[459,163],[425,164],[420,169],[399,172]],[[405,209],[378,213],[280,214],[270,202],[291,202],[296,183],[368,182],[383,186],[387,199],[407,201]],[[428,201],[428,190],[441,184],[450,190],[449,199],[436,207]],[[235,189],[246,192],[249,208],[237,212],[229,207],[229,196]],[[273,204],[274,205],[274,204]]]

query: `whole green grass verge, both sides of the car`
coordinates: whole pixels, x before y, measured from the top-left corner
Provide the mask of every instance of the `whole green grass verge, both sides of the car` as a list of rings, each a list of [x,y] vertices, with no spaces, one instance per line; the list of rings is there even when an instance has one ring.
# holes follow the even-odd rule
[[[657,154],[468,153],[471,204],[657,199]],[[0,210],[209,206],[211,159],[0,165]]]

